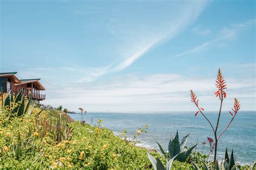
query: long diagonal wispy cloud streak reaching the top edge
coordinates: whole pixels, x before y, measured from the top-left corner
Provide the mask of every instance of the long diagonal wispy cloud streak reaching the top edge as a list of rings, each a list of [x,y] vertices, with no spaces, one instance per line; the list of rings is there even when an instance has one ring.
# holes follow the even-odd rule
[[[152,47],[163,41],[170,40],[171,38],[176,36],[176,34],[183,30],[185,26],[190,25],[199,16],[200,12],[205,8],[206,4],[206,1],[192,2],[188,4],[185,9],[181,9],[178,19],[170,18],[170,21],[164,21],[164,25],[163,23],[155,23],[156,25],[159,25],[159,27],[154,27],[154,29],[150,32],[150,26],[144,25],[145,32],[149,33],[145,34],[143,32],[138,32],[138,34],[134,34],[133,36],[138,38],[134,39],[135,41],[132,46],[127,46],[127,49],[130,49],[132,53],[128,52],[126,58],[117,66],[113,67],[112,70],[120,71],[129,67],[130,65],[132,65],[133,62],[142,57]],[[112,26],[112,29],[113,27],[114,26]],[[114,31],[112,32],[116,33],[116,31],[117,30],[114,29]]]

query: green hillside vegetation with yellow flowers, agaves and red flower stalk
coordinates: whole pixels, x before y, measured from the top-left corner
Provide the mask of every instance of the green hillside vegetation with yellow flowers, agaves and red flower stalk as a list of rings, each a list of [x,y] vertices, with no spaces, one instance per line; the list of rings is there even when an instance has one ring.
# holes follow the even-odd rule
[[[218,80],[223,84],[220,70]],[[220,92],[216,93],[221,100],[226,96],[221,90],[224,87],[221,85]],[[199,109],[197,97],[192,90],[191,97]],[[146,133],[148,125],[139,128],[132,139],[127,138],[126,130],[117,137],[111,130],[103,127],[100,119],[95,125],[86,124],[86,111],[82,108],[79,108],[81,121],[71,123],[61,106],[55,109],[50,105],[36,104],[31,98],[23,97],[22,93],[2,94],[0,169],[255,169],[255,164],[252,167],[235,164],[233,150],[230,157],[226,150],[221,164],[218,160],[208,160],[214,147],[216,153],[219,137],[230,126],[239,108],[240,104],[235,99],[233,117],[217,140],[218,123],[214,129],[204,115],[204,109],[199,109],[198,112],[210,123],[215,135],[215,145],[213,139],[208,138],[208,155],[204,155],[203,151],[194,151],[197,145],[187,147],[189,134],[179,140],[178,131],[174,139],[169,141],[168,152],[158,142],[160,151],[149,152],[146,148],[134,146],[138,142],[136,138]]]

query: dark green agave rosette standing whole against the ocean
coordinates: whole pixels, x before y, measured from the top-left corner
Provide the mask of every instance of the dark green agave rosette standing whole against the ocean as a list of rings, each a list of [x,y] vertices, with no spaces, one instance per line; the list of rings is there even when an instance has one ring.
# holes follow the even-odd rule
[[[187,139],[190,136],[190,134],[187,134],[180,142],[179,142],[179,134],[178,131],[176,133],[176,136],[174,137],[174,139],[170,139],[169,141],[169,147],[168,147],[168,151],[169,151],[169,158],[174,160],[178,160],[180,162],[184,162],[186,161],[186,159],[188,158],[188,156],[192,153],[193,149],[197,146],[194,145],[191,148],[188,148],[187,150],[185,150],[185,146],[187,144]],[[157,142],[161,153],[164,155],[164,157],[167,160],[167,154],[165,153],[165,151],[163,150],[163,147]]]

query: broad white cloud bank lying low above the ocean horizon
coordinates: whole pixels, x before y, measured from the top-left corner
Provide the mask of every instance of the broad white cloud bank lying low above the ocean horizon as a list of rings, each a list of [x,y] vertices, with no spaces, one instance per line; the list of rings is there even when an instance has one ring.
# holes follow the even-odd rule
[[[224,110],[233,105],[238,97],[243,110],[255,110],[255,79],[232,79],[225,77],[228,84]],[[149,76],[122,76],[98,84],[76,84],[73,87],[52,88],[44,103],[64,105],[72,110],[84,106],[88,111],[166,111],[193,110],[190,89],[200,99],[200,105],[207,110],[218,109],[219,100],[213,94],[216,90],[215,77],[199,78],[178,74],[153,74]],[[242,91],[242,93],[241,93]]]

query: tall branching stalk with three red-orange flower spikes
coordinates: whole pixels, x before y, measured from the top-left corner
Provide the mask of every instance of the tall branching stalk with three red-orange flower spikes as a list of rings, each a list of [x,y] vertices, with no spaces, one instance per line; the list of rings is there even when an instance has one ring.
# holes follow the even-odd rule
[[[219,121],[220,121],[220,115],[221,115],[221,109],[222,109],[222,105],[223,105],[223,101],[224,98],[227,97],[226,92],[224,91],[227,86],[224,77],[219,69],[218,75],[217,75],[217,80],[216,80],[216,87],[217,87],[217,91],[214,92],[214,94],[216,95],[216,97],[219,97],[220,99],[220,108],[219,108],[219,112],[218,112],[218,119],[217,119],[217,124],[215,126],[215,128],[213,127],[211,121],[206,117],[206,115],[204,114],[204,108],[199,108],[199,103],[198,103],[198,98],[196,96],[196,94],[194,93],[193,90],[190,90],[190,97],[191,97],[191,101],[196,105],[197,107],[197,111],[196,114],[194,116],[197,116],[200,112],[201,115],[204,116],[204,118],[206,119],[206,121],[210,124],[213,133],[214,133],[214,138],[215,138],[215,144],[213,144],[213,139],[208,138],[208,141],[210,143],[210,150],[213,151],[214,148],[214,162],[216,162],[216,157],[217,157],[217,146],[218,146],[218,140],[219,138],[223,135],[223,133],[228,129],[228,127],[230,126],[230,124],[232,123],[234,117],[237,115],[238,110],[240,109],[240,103],[237,100],[237,98],[234,99],[234,108],[232,109],[232,111],[229,111],[230,115],[232,116],[232,119],[230,120],[230,122],[227,124],[226,128],[221,132],[221,133],[217,133],[218,131],[218,127],[219,127]]]

